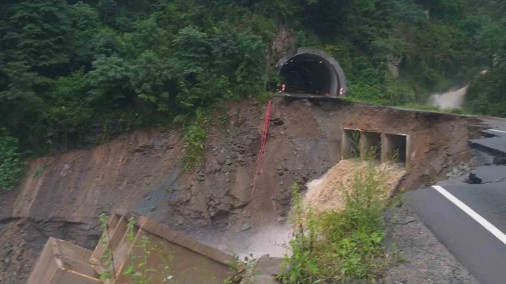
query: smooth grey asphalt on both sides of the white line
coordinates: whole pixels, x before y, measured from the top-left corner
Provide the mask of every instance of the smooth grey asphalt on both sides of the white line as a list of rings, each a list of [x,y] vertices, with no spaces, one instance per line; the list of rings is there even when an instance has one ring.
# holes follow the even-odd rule
[[[506,182],[484,185],[486,187],[452,186],[445,189],[505,232]],[[406,200],[440,242],[478,281],[506,283],[505,243],[433,187],[408,192]]]

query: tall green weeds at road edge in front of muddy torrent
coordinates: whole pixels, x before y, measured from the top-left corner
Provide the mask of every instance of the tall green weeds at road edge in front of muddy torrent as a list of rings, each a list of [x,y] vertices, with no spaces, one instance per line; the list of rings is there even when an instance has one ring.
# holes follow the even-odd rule
[[[351,169],[352,170],[352,169]],[[385,265],[383,198],[385,174],[374,162],[353,169],[351,188],[343,190],[346,208],[320,212],[302,204],[300,186],[293,188],[292,255],[282,283],[374,282]]]

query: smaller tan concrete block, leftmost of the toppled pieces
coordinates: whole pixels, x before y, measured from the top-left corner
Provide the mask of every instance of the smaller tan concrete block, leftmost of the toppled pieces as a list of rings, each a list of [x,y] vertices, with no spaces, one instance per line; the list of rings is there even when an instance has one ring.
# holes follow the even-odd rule
[[[49,237],[27,284],[97,284],[91,251]]]

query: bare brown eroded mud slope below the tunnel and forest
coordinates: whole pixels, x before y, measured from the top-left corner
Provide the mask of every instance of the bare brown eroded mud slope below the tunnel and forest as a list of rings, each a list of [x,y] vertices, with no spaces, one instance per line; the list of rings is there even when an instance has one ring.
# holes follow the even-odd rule
[[[294,182],[319,178],[339,161],[342,127],[410,134],[415,148],[402,186],[431,184],[468,158],[467,139],[477,133],[468,125],[480,123],[367,104],[277,99],[278,120],[250,198],[263,109],[230,104],[229,125],[215,119],[205,166],[190,173],[181,173],[180,129],[138,131],[92,150],[34,159],[20,187],[0,196],[0,280],[26,281],[49,236],[93,248],[98,215],[119,207],[208,242],[215,235],[222,241],[251,235],[282,220]]]

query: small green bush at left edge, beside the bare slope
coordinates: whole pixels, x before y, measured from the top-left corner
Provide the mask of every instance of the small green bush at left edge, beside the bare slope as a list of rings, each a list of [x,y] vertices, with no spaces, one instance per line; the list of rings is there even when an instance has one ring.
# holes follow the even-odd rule
[[[13,190],[23,175],[26,162],[17,152],[17,139],[0,129],[0,189]]]

